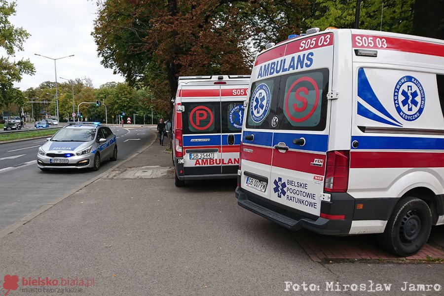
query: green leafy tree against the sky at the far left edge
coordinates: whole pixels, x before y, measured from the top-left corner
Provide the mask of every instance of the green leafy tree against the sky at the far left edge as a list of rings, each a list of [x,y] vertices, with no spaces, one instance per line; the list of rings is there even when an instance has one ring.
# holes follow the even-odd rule
[[[35,73],[34,65],[29,59],[9,61],[16,50],[23,50],[23,42],[29,37],[23,28],[14,27],[8,20],[11,15],[15,15],[15,7],[15,2],[0,0],[0,47],[6,51],[6,57],[0,57],[0,104],[6,106],[13,102],[24,104],[25,97],[14,87],[14,82],[20,82],[24,74]]]

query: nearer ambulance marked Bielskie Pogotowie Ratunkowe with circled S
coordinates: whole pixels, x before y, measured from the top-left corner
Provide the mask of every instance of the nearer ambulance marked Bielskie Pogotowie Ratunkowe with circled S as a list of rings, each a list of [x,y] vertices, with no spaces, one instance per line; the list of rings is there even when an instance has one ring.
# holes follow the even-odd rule
[[[443,40],[313,28],[261,52],[249,89],[241,207],[291,230],[378,233],[399,256],[444,224]]]

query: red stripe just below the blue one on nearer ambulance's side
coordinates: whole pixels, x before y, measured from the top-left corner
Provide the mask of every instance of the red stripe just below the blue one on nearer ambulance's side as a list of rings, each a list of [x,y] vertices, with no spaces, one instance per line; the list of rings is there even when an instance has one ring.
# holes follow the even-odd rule
[[[442,168],[443,152],[350,152],[350,168]]]

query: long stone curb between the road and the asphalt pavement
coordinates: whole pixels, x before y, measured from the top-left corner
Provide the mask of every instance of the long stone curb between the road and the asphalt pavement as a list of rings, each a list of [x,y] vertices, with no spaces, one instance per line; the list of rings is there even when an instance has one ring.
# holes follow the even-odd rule
[[[154,134],[154,139],[151,141],[151,143],[148,144],[148,146],[146,148],[142,148],[139,151],[136,151],[133,155],[131,155],[130,157],[128,157],[127,159],[125,159],[122,162],[119,162],[118,164],[114,165],[113,167],[109,168],[108,170],[106,170],[105,172],[103,172],[102,174],[84,182],[83,184],[78,185],[77,187],[75,187],[74,189],[68,191],[67,193],[63,194],[60,197],[57,197],[55,199],[53,199],[52,201],[48,202],[47,204],[44,204],[43,206],[41,206],[39,209],[35,210],[34,212],[28,214],[27,216],[25,216],[24,218],[20,219],[19,221],[15,222],[14,224],[6,227],[5,229],[0,231],[0,239],[3,238],[4,236],[11,234],[12,232],[14,232],[18,227],[27,224],[28,222],[30,222],[31,220],[33,220],[34,218],[36,218],[38,215],[40,215],[41,213],[45,212],[46,210],[50,209],[51,207],[53,207],[54,205],[58,204],[59,202],[61,202],[62,200],[64,200],[65,198],[73,195],[75,192],[77,192],[78,190],[86,187],[87,185],[96,182],[97,180],[101,179],[102,177],[108,175],[109,173],[111,173],[113,170],[115,170],[117,167],[119,167],[120,165],[130,161],[131,159],[133,159],[134,157],[136,157],[137,155],[141,154],[142,152],[144,152],[145,150],[147,150],[148,148],[150,148],[152,146],[152,144],[154,144],[154,142],[157,139],[157,134],[150,130],[151,133]]]

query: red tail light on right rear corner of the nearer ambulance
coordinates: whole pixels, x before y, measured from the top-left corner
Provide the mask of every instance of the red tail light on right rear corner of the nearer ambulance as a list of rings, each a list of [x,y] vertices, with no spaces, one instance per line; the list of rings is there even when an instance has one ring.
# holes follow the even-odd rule
[[[327,152],[325,172],[325,192],[347,192],[350,151],[338,150]]]

